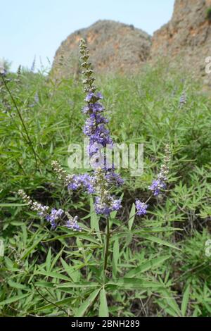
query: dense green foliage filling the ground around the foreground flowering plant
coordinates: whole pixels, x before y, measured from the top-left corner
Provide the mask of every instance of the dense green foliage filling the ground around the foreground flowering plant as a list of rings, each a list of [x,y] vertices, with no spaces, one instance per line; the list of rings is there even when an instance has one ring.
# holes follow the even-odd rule
[[[94,252],[98,242],[88,239],[87,246],[82,248],[80,237],[55,240],[55,232],[21,204],[17,191],[25,189],[49,206],[53,201],[61,208],[68,206],[73,215],[77,213],[89,225],[87,196],[69,195],[51,170],[52,160],[67,168],[68,145],[82,143],[82,82],[77,77],[58,82],[51,75],[27,70],[18,76],[8,74],[8,78],[6,84],[20,115],[1,84],[0,239],[4,241],[5,253],[0,257],[0,314],[78,316],[82,311],[77,307],[91,294],[90,288],[86,285],[65,288],[62,283],[79,282],[79,270],[82,275],[86,273],[87,263],[91,263],[87,280],[97,275]],[[113,261],[108,261],[110,273],[122,277],[127,268],[171,256],[155,263],[153,272],[146,268],[145,280],[159,280],[163,288],[155,292],[126,288],[119,292],[115,285],[108,285],[112,289],[107,297],[109,314],[210,316],[210,257],[205,254],[211,215],[210,99],[200,92],[198,82],[188,77],[181,79],[181,73],[163,65],[146,67],[132,77],[98,77],[96,85],[105,96],[115,142],[144,144],[143,175],[131,177],[122,170],[125,184],[118,222],[127,220],[137,197],[144,199],[148,195],[148,185],[159,169],[167,142],[173,153],[165,197],[152,201],[146,218],[134,219],[135,230],[166,227],[167,231],[153,235],[154,240],[139,235],[134,240],[117,238]],[[184,91],[186,104],[180,106]],[[170,227],[180,230],[171,231]],[[160,245],[159,240],[180,250],[172,252],[170,246]],[[105,299],[103,292],[101,298]],[[97,315],[95,299],[85,311],[87,316]]]

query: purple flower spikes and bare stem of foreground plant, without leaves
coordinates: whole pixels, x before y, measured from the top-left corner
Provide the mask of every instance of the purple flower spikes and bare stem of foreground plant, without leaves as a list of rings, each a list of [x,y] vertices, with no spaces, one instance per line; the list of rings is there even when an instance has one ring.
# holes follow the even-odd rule
[[[110,137],[110,131],[108,130],[108,119],[105,116],[105,108],[102,104],[103,95],[101,92],[97,92],[97,88],[94,85],[95,77],[94,72],[91,69],[91,63],[89,62],[89,51],[87,44],[82,39],[80,42],[80,54],[82,59],[83,68],[83,84],[84,92],[86,96],[84,101],[86,105],[82,108],[82,112],[86,115],[86,120],[83,128],[84,135],[89,138],[89,146],[87,148],[87,154],[90,157],[93,169],[90,173],[84,174],[68,174],[58,163],[58,161],[52,162],[52,167],[55,173],[58,175],[58,179],[63,181],[63,185],[70,191],[81,189],[87,194],[94,195],[94,209],[96,214],[103,216],[106,219],[106,226],[104,235],[104,247],[103,247],[103,278],[105,280],[106,271],[108,266],[110,237],[113,232],[117,231],[122,225],[128,223],[129,220],[122,223],[114,230],[110,229],[110,213],[113,211],[119,211],[121,208],[121,200],[112,193],[113,187],[119,187],[123,184],[123,180],[115,173],[115,167],[113,164],[108,163],[106,156],[101,151],[104,151],[107,146],[113,148],[113,139]],[[170,163],[170,146],[165,147],[165,158],[161,165],[160,172],[148,189],[151,191],[151,196],[147,201],[142,202],[136,199],[136,212],[137,216],[145,216],[148,209],[148,201],[152,196],[158,196],[162,193],[163,189],[166,189],[167,175],[169,173]],[[82,228],[77,223],[77,216],[72,217],[68,211],[63,209],[52,208],[49,206],[43,206],[32,201],[30,196],[27,196],[23,190],[19,190],[18,194],[22,197],[23,201],[30,207],[32,211],[36,211],[38,215],[44,218],[50,223],[53,229],[56,229],[59,225],[64,225],[75,231],[81,231]],[[134,216],[131,218],[134,218]]]

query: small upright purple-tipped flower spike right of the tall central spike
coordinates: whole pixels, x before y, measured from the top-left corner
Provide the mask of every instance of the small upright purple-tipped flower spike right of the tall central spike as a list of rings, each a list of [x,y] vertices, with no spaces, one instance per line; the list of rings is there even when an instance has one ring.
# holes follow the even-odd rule
[[[161,165],[160,173],[157,175],[157,179],[153,180],[151,186],[148,187],[153,192],[154,196],[158,196],[162,189],[166,188],[167,175],[169,174],[169,163],[171,161],[170,146],[165,146],[164,163]]]

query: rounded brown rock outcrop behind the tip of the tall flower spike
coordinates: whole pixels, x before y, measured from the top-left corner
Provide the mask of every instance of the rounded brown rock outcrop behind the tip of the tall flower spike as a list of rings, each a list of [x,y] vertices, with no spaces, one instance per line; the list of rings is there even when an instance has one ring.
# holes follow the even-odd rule
[[[151,37],[146,32],[133,25],[99,20],[62,42],[53,61],[56,77],[77,73],[81,38],[89,44],[90,60],[98,73],[136,72],[146,62],[151,49]]]

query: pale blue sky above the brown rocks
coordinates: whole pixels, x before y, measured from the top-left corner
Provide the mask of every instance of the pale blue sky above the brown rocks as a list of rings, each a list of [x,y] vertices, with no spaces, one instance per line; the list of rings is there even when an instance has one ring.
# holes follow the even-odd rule
[[[133,24],[153,34],[170,20],[174,0],[1,0],[0,58],[31,67],[46,65],[70,33],[96,20]]]

